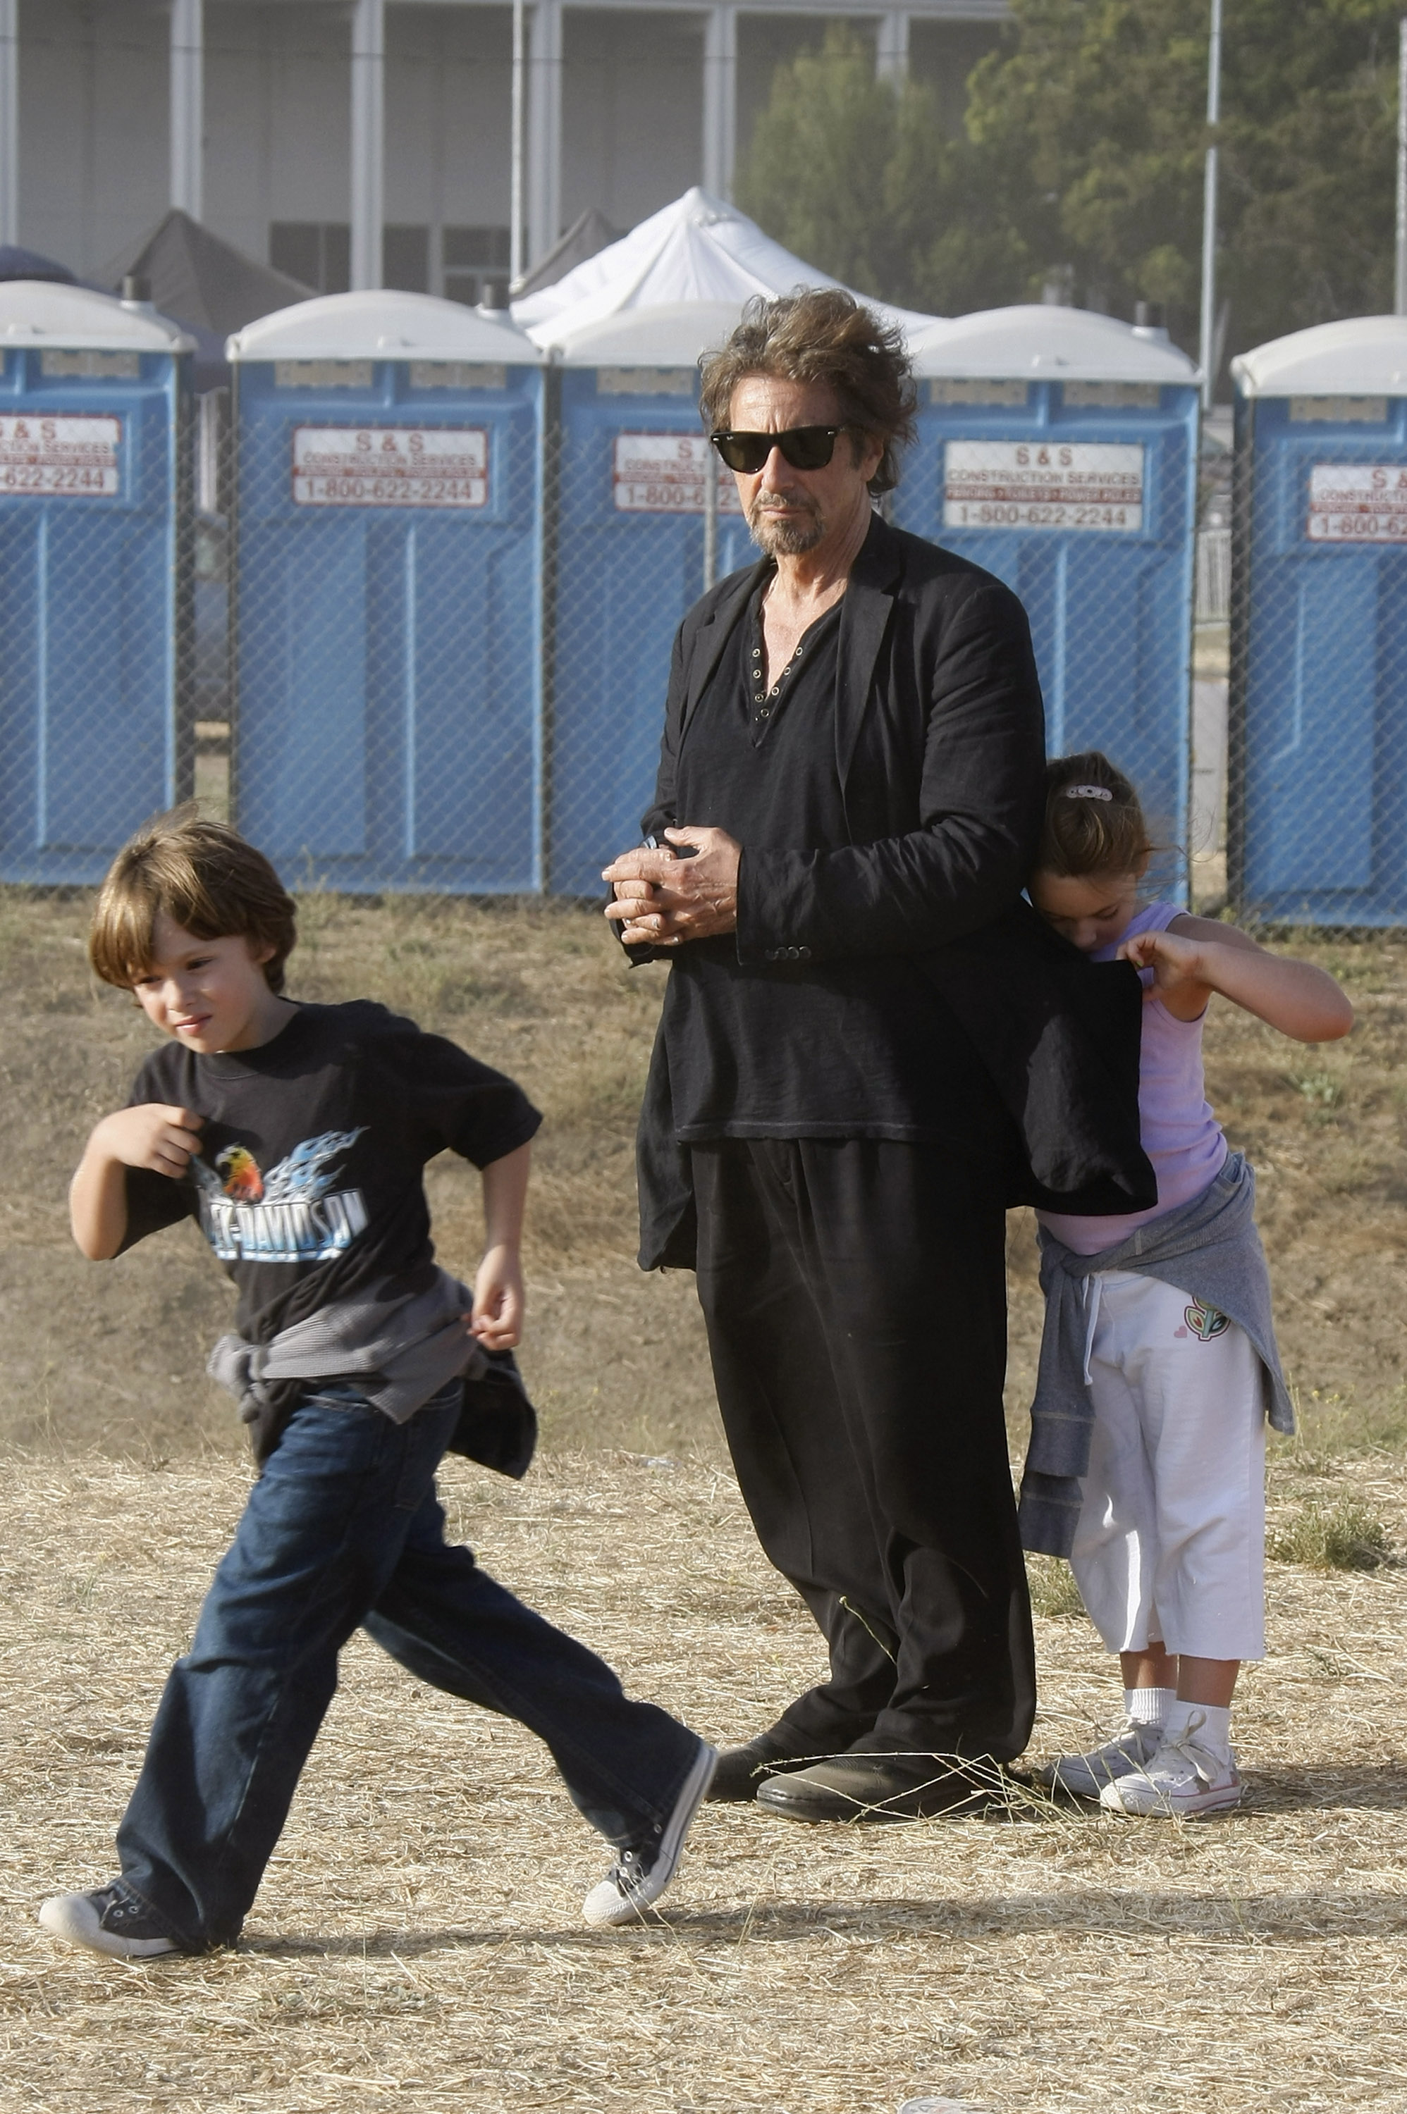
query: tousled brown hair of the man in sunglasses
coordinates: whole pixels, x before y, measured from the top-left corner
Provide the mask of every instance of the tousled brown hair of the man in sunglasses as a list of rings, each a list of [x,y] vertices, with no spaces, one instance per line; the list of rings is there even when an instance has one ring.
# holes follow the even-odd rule
[[[800,288],[776,300],[753,294],[728,342],[705,353],[698,372],[698,408],[709,431],[728,425],[732,391],[749,374],[834,389],[842,425],[884,450],[870,490],[893,493],[899,482],[899,455],[918,431],[914,370],[903,334],[844,288]]]

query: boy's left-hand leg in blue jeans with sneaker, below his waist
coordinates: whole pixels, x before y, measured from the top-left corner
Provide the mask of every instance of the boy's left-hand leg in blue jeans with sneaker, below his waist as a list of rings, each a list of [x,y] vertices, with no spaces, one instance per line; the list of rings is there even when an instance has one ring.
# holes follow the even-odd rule
[[[99,1951],[127,1951],[99,1943],[114,1922],[165,1932],[178,1951],[239,1936],[336,1689],[336,1655],[396,1569],[457,1414],[457,1387],[406,1425],[351,1389],[294,1410],[171,1668],[116,1837],[116,1905],[59,1896],[47,1928]],[[102,1932],[87,1930],[83,1900]]]

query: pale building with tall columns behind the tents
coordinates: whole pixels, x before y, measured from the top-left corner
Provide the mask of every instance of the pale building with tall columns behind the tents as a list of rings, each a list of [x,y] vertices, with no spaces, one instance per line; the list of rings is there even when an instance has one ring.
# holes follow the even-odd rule
[[[956,123],[1005,0],[531,0],[525,254],[728,197],[772,70],[842,17]],[[476,300],[506,277],[512,6],[487,0],[0,0],[0,241],[97,273],[169,205],[326,292]]]

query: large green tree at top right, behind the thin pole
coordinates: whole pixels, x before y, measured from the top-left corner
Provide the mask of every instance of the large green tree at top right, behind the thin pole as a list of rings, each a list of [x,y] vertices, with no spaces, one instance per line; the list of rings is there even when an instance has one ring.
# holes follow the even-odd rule
[[[1208,0],[1013,0],[967,133],[1022,171],[1028,254],[1083,298],[1159,300],[1195,336]],[[1392,281],[1396,17],[1382,0],[1231,0],[1221,288],[1234,342],[1382,309]],[[1007,188],[1007,197],[1009,197]]]

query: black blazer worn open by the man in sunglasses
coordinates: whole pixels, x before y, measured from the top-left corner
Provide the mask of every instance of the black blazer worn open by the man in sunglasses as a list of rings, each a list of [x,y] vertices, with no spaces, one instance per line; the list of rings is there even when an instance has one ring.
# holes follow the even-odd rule
[[[675,638],[645,833],[675,812],[679,746],[762,560]],[[741,962],[908,953],[973,1040],[1022,1142],[1011,1203],[1134,1211],[1157,1201],[1138,1144],[1143,994],[1022,901],[1045,801],[1045,723],[1020,600],[982,567],[878,516],[840,605],[836,765],[851,843],[743,848]],[[671,949],[633,947],[633,960]],[[656,1038],[639,1129],[641,1264],[692,1264],[688,1152]]]

